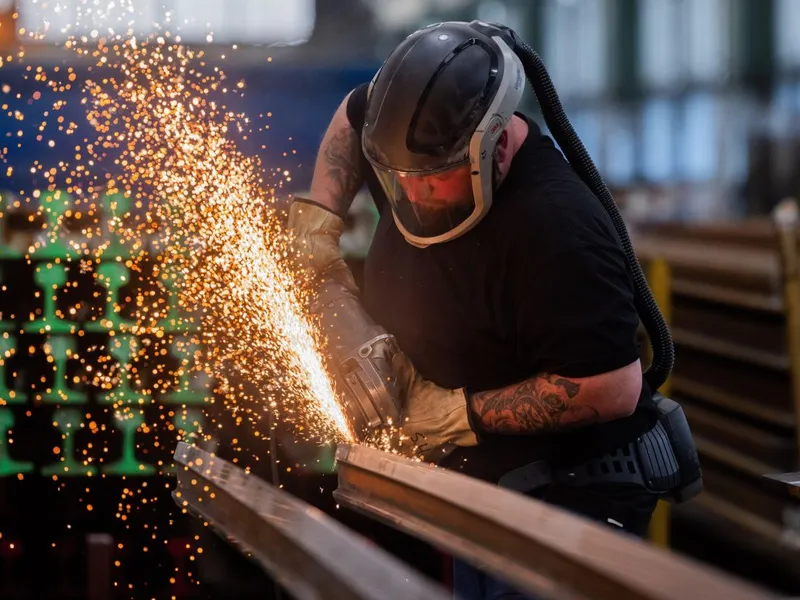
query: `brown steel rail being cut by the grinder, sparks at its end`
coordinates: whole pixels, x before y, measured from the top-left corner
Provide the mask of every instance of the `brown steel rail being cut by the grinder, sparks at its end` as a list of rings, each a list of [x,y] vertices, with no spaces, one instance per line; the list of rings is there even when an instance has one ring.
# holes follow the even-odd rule
[[[365,446],[336,451],[334,496],[542,598],[778,598],[558,507]]]

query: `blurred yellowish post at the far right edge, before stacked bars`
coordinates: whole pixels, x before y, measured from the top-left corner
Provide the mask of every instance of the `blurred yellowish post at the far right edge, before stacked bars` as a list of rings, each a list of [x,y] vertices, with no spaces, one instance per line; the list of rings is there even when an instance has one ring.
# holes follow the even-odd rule
[[[795,465],[800,468],[800,280],[798,280],[797,235],[800,221],[794,198],[786,198],[773,210],[772,217],[778,230],[781,267],[783,274],[783,300],[786,314],[786,341],[789,346],[789,370],[794,400],[795,437],[797,455]]]

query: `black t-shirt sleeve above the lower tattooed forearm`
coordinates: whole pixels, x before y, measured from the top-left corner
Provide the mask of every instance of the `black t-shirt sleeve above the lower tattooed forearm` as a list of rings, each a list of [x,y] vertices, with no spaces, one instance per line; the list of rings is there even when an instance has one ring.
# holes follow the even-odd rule
[[[521,240],[511,261],[518,355],[533,372],[590,377],[613,371],[639,358],[625,255],[603,215],[590,211],[561,221],[559,212],[548,219],[548,232]]]

